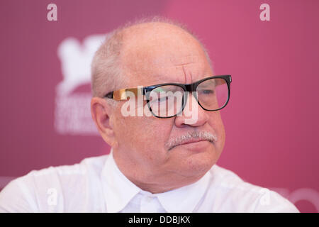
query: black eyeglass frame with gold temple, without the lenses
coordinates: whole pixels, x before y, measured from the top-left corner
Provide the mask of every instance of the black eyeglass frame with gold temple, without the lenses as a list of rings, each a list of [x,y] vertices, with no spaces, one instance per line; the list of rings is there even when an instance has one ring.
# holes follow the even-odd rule
[[[223,106],[221,106],[219,109],[209,110],[209,109],[204,108],[201,105],[201,103],[198,101],[198,98],[196,95],[194,95],[194,97],[196,98],[198,105],[201,106],[201,108],[203,108],[204,110],[206,110],[206,111],[219,111],[220,109],[223,109],[228,104],[228,101],[230,99],[230,83],[232,82],[231,75],[216,75],[216,76],[212,76],[212,77],[206,77],[206,78],[198,80],[197,82],[194,82],[192,84],[165,83],[165,84],[155,84],[155,85],[151,85],[151,86],[147,86],[147,87],[141,87],[140,90],[138,88],[120,89],[117,91],[108,92],[108,94],[106,94],[104,97],[108,98],[108,99],[115,99],[116,101],[121,101],[121,100],[127,99],[127,96],[125,96],[125,92],[130,91],[130,92],[133,92],[135,95],[142,94],[142,95],[147,96],[147,94],[149,95],[153,89],[156,89],[157,87],[167,86],[167,85],[174,85],[174,86],[181,87],[184,90],[184,92],[196,92],[198,85],[201,84],[202,82],[208,80],[208,79],[224,79],[225,80],[225,82],[228,86],[228,99],[225,102],[225,104]],[[115,92],[118,92],[118,93],[115,95]],[[146,99],[147,106],[149,107],[152,115],[157,117],[157,118],[172,118],[174,116],[177,116],[177,114],[180,114],[181,111],[184,110],[184,108],[186,106],[186,102],[187,102],[187,96],[185,96],[185,101],[184,101],[184,96],[183,96],[183,98],[182,98],[183,105],[181,107],[181,111],[179,111],[174,116],[157,116],[153,113],[152,108],[150,107],[150,99],[149,98],[150,97],[147,96],[147,99]]]

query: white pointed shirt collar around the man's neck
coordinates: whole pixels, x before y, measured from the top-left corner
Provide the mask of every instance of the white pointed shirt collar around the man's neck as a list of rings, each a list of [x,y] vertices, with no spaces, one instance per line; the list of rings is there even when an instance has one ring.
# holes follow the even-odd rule
[[[189,184],[169,192],[152,194],[143,191],[123,175],[114,161],[113,150],[111,149],[111,153],[108,155],[108,159],[103,167],[101,177],[108,212],[121,211],[130,203],[134,196],[141,193],[148,196],[157,196],[160,204],[169,213],[190,213],[194,211],[208,188],[210,172],[206,172],[194,184]]]

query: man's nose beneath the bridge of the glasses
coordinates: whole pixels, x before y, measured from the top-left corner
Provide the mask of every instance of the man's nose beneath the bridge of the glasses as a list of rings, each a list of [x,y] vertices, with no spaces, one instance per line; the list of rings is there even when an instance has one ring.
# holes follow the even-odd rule
[[[177,127],[184,126],[203,126],[208,121],[207,112],[199,106],[196,98],[192,93],[187,94],[188,99],[181,114],[175,118],[175,125]]]

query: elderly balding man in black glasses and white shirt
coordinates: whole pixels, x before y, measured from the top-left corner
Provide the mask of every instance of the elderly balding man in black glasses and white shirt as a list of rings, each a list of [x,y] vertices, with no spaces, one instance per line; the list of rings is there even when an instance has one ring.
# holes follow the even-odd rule
[[[13,180],[0,211],[298,212],[216,165],[230,82],[176,23],[118,28],[92,62],[91,115],[111,153]]]

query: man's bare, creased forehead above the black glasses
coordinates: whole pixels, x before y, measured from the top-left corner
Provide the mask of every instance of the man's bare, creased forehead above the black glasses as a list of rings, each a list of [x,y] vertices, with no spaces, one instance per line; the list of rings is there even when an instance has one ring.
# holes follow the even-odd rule
[[[121,52],[128,86],[185,84],[212,74],[201,45],[189,33],[165,28],[132,36]]]

